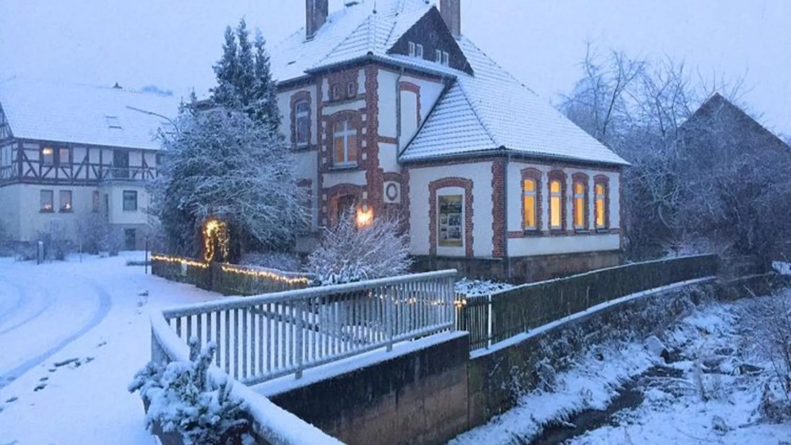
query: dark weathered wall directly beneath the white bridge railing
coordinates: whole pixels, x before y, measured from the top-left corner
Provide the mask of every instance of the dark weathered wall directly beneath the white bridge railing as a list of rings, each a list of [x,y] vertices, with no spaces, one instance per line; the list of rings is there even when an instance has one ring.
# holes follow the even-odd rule
[[[349,445],[446,443],[467,430],[469,336],[271,396]]]

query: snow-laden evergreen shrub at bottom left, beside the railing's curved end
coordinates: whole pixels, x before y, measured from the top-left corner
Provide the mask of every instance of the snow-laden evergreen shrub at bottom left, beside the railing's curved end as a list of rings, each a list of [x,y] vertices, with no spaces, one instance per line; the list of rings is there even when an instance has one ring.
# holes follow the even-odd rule
[[[226,378],[216,382],[208,373],[217,350],[214,343],[202,350],[197,338],[190,340],[190,361],[163,367],[148,363],[129,385],[149,402],[146,428],[154,423],[165,432],[180,433],[187,445],[236,445],[248,431],[241,400],[231,397]]]

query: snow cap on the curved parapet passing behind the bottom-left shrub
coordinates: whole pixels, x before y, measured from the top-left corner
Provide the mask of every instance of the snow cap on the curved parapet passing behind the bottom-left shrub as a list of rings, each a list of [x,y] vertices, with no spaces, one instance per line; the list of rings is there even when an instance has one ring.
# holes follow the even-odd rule
[[[190,361],[189,347],[171,329],[161,313],[151,314],[151,360],[158,363]],[[210,367],[209,373],[215,382],[227,378],[225,372],[216,366]],[[231,397],[244,401],[242,406],[251,417],[252,432],[271,445],[343,445],[338,439],[238,382],[231,387]]]

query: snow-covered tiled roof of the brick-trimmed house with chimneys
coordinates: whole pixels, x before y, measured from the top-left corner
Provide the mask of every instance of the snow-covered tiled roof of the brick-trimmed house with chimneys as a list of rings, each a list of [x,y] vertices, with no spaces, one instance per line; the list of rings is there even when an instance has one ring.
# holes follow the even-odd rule
[[[439,99],[401,161],[501,150],[547,158],[626,165],[580,127],[562,116],[462,36],[457,43],[473,75],[430,60],[388,54],[397,40],[433,7],[425,0],[358,2],[331,13],[311,40],[300,29],[276,46],[271,67],[278,81],[312,70],[372,58],[456,79]]]

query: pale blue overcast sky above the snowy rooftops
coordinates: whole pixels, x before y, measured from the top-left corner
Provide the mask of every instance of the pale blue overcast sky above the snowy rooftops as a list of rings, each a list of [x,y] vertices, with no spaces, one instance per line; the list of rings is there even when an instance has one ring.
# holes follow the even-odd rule
[[[200,92],[243,16],[274,44],[303,24],[305,0],[0,0],[0,75]],[[547,100],[579,78],[588,41],[746,74],[751,111],[791,135],[789,0],[462,0],[462,32]]]

